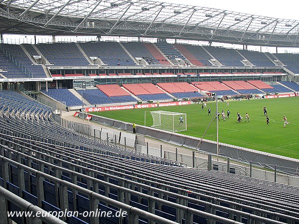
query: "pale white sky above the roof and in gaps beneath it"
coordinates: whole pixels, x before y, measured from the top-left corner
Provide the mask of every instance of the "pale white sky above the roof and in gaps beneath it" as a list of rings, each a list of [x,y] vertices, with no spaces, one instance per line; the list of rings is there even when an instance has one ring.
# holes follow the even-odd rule
[[[196,5],[196,6],[205,6],[217,9],[224,9],[236,12],[243,12],[248,14],[254,15],[263,15],[263,16],[270,16],[282,19],[296,19],[299,20],[299,13],[298,7],[294,4],[296,1],[294,0],[284,0],[281,3],[275,0],[157,0],[161,2],[168,2],[168,3],[177,3],[177,4],[187,4],[187,5]],[[250,2],[250,3],[249,3]],[[29,35],[5,35],[4,38],[7,38],[10,43],[21,43],[27,42],[32,43],[34,42],[33,36]],[[95,40],[95,37],[79,37],[72,36],[72,37],[56,37],[56,41],[90,41]],[[83,38],[83,39],[82,39]],[[85,39],[84,39],[85,38]],[[104,37],[106,39],[103,40],[116,40],[117,37]],[[49,42],[51,41],[51,36],[39,36],[37,37],[38,42]],[[121,41],[133,41],[134,38],[126,38],[123,37],[120,39]],[[147,40],[147,41],[154,41],[154,40]],[[206,43],[193,43],[190,44],[200,44],[205,45]],[[214,46],[223,46],[228,48],[240,48],[238,45],[229,45],[224,43],[214,43]],[[259,46],[249,46],[249,50],[260,51]],[[274,52],[276,49],[274,47],[263,47],[262,51],[264,52]],[[299,48],[280,48],[279,53],[285,52],[298,52]]]

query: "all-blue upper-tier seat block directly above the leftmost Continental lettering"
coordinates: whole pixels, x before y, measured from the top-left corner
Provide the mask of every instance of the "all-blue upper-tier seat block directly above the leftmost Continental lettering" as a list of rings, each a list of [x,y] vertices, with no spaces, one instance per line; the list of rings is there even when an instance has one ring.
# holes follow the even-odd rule
[[[38,50],[55,66],[89,66],[75,43],[37,44]]]

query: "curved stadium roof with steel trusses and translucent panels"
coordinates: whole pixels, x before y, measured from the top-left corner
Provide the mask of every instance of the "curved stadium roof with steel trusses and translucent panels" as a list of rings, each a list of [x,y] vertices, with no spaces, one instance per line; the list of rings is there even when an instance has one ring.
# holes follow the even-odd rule
[[[0,32],[299,46],[299,20],[153,0],[0,0]]]

